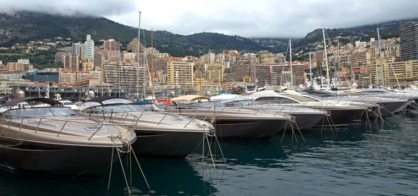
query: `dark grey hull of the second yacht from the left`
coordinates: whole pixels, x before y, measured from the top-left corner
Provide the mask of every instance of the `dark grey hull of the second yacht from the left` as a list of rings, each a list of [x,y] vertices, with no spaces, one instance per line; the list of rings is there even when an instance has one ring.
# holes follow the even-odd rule
[[[203,141],[203,131],[135,130],[132,144],[139,156],[185,158]]]

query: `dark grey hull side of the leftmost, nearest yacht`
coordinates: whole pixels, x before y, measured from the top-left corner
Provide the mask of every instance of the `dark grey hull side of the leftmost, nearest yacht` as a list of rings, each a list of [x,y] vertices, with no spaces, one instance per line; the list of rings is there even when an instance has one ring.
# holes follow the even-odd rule
[[[70,146],[10,140],[0,137],[0,164],[31,172],[70,176],[107,176],[111,146]],[[114,152],[114,161],[118,160]]]

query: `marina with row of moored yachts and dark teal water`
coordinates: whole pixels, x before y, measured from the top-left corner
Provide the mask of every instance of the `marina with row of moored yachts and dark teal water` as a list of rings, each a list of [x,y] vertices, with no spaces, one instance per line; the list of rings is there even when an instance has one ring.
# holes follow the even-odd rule
[[[77,186],[60,195],[415,193],[418,93],[291,89],[171,93],[158,107],[19,90],[0,105],[0,195],[25,195],[22,178]]]

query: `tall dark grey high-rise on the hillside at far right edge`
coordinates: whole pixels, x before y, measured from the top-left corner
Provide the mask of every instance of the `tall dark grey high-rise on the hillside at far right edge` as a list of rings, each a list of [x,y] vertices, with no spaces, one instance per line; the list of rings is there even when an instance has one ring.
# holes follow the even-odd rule
[[[407,22],[399,26],[402,61],[418,60],[418,22]]]

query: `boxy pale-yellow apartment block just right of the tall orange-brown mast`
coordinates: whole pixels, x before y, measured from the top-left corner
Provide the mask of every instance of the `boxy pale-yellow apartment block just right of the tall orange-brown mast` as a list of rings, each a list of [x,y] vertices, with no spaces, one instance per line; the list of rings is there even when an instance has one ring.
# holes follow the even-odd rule
[[[169,61],[167,83],[180,85],[184,91],[192,91],[194,63]]]

